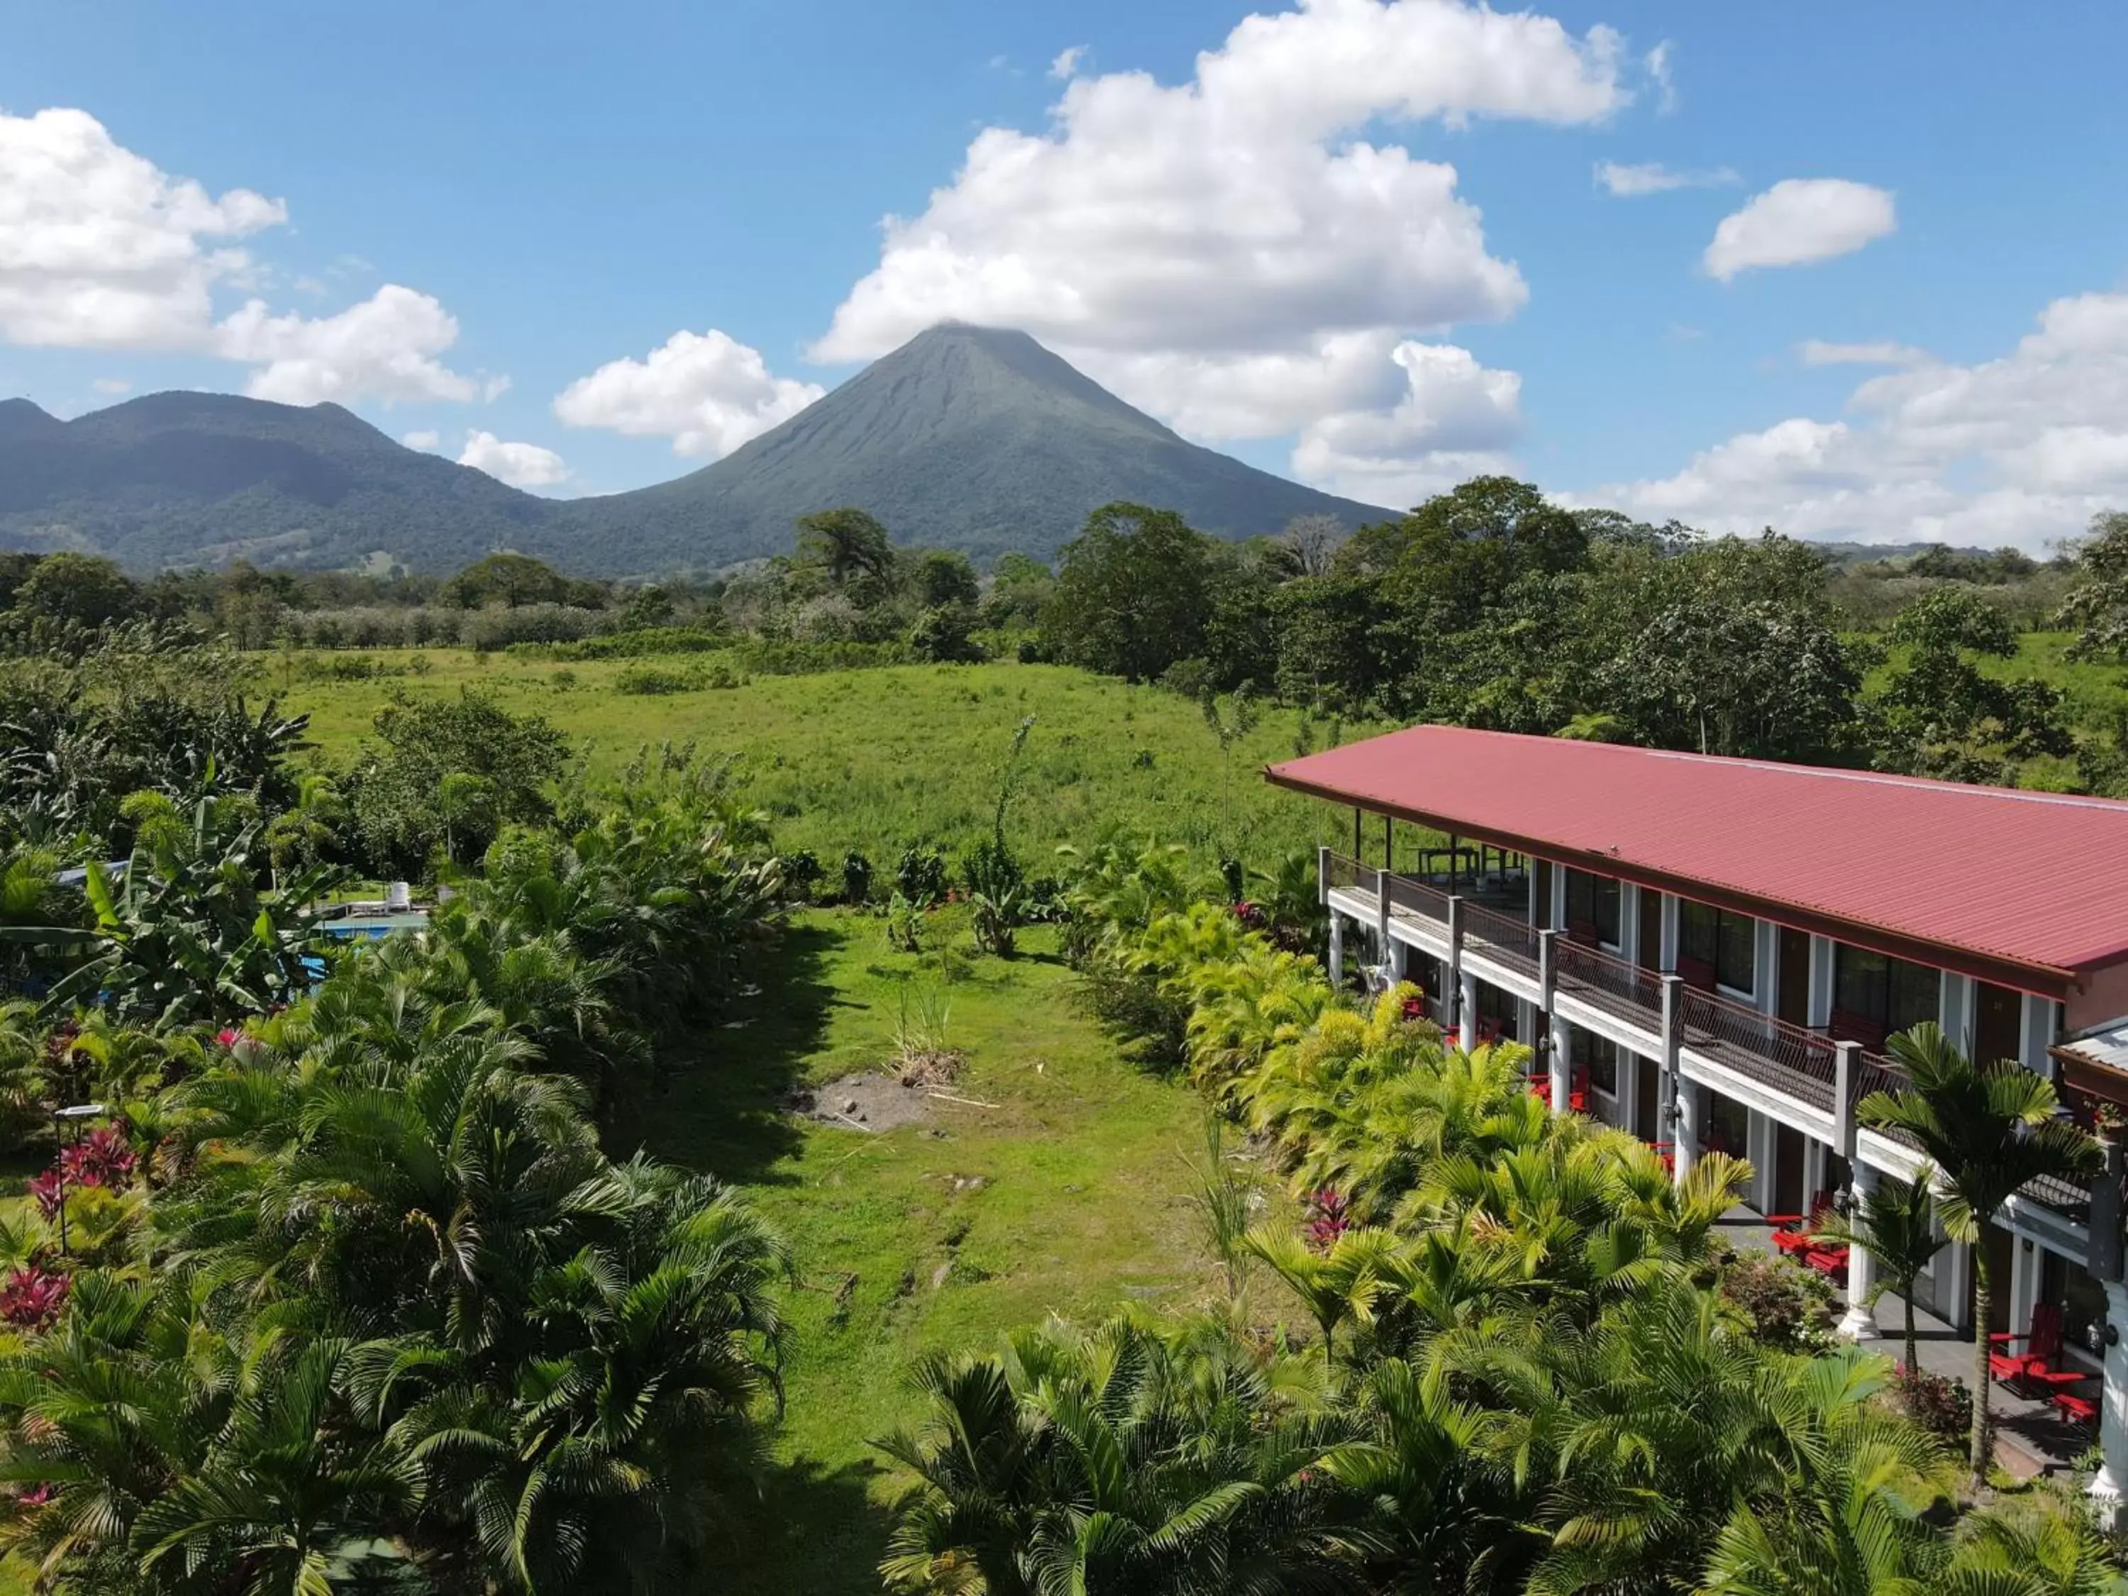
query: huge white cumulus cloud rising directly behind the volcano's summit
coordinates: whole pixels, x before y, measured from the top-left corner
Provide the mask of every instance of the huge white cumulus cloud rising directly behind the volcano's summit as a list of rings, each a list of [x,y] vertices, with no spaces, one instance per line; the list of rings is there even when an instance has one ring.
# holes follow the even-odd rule
[[[1456,168],[1383,130],[1600,121],[1636,64],[1611,30],[1534,13],[1302,0],[1243,19],[1185,83],[1070,68],[1047,130],[985,128],[919,215],[885,221],[815,358],[962,319],[1032,332],[1198,438],[1387,415],[1404,340],[1509,317],[1528,287],[1487,251]],[[1332,460],[1324,445],[1296,470]]]

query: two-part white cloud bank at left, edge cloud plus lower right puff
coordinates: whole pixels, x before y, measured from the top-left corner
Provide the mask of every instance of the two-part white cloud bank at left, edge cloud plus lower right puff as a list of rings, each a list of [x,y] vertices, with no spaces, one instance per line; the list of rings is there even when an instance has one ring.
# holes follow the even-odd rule
[[[406,287],[328,317],[251,300],[217,319],[217,292],[275,281],[234,240],[285,223],[285,202],[170,177],[87,111],[0,115],[0,338],[223,355],[257,368],[251,394],[292,404],[470,398],[436,360],[458,323]]]

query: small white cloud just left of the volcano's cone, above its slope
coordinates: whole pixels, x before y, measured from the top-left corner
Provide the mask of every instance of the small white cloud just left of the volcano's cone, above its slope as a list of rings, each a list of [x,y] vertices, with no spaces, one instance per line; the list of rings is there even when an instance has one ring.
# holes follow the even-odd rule
[[[647,360],[609,360],[564,387],[553,413],[572,428],[672,438],[675,453],[719,460],[824,392],[775,377],[758,349],[711,328],[675,332]]]

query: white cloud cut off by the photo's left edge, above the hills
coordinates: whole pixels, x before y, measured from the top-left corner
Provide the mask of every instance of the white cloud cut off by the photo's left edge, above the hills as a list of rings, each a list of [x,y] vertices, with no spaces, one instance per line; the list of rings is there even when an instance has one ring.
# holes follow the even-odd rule
[[[0,115],[0,336],[72,349],[192,349],[243,238],[287,221],[251,189],[209,194],[121,149],[87,111]]]

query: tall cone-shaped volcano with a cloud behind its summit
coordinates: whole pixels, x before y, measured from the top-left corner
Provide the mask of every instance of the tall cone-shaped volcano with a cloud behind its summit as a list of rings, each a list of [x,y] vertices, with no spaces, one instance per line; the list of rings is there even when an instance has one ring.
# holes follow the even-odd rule
[[[1390,511],[1185,443],[1024,332],[941,326],[713,466],[579,500],[606,536],[666,564],[730,564],[789,547],[792,521],[860,504],[898,543],[1049,558],[1113,500],[1181,511],[1219,536],[1296,515],[1345,526]]]

